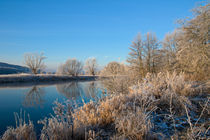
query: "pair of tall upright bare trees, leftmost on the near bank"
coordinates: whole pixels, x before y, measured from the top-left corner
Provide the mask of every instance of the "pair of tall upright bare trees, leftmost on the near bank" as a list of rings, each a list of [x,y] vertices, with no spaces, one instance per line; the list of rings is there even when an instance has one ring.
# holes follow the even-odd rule
[[[138,34],[130,46],[127,62],[136,76],[144,77],[147,72],[156,72],[158,63],[158,40],[152,33],[147,33],[145,40]]]

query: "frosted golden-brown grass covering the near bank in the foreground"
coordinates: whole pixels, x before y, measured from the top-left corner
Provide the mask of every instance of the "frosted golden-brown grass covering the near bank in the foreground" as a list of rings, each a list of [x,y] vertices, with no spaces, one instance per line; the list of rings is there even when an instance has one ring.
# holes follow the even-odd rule
[[[183,73],[148,74],[129,91],[77,109],[56,102],[54,116],[40,121],[40,139],[209,139],[208,81],[186,81]]]

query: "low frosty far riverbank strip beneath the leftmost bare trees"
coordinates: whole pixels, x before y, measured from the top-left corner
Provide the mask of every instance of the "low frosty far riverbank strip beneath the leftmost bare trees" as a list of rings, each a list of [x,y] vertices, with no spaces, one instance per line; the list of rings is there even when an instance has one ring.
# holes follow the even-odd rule
[[[41,82],[62,82],[62,81],[83,81],[97,80],[99,76],[69,76],[55,74],[12,74],[0,75],[0,85],[19,83],[41,83]]]

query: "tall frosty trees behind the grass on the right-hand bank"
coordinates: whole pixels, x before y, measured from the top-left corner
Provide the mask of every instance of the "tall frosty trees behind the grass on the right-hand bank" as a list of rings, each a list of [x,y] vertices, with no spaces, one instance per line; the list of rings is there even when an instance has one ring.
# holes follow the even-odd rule
[[[138,34],[127,59],[130,69],[144,77],[161,71],[185,72],[196,80],[209,79],[210,4],[193,10],[193,17],[158,41],[154,33]]]

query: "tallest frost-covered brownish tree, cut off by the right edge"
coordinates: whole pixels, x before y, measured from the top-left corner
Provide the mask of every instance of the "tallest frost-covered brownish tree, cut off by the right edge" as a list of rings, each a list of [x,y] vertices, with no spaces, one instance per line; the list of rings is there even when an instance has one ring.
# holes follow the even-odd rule
[[[193,74],[197,79],[210,74],[210,4],[193,10],[194,17],[181,23],[182,34],[178,40],[179,69]]]

